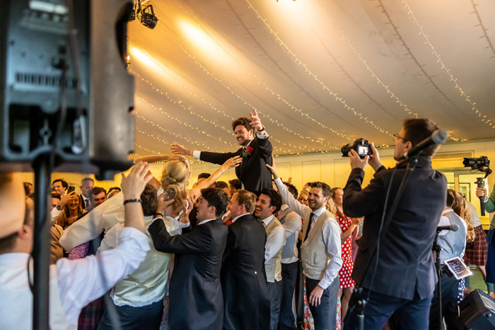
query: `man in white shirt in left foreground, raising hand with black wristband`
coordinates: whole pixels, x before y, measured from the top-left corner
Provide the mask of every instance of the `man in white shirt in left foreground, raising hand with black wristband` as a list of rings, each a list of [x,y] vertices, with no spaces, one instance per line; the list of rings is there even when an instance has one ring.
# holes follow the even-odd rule
[[[128,177],[122,175],[125,225],[119,247],[99,256],[60,259],[50,266],[50,328],[77,329],[81,309],[132,273],[144,260],[149,244],[144,235],[139,196],[151,178],[147,163],[137,164]],[[24,195],[24,194],[23,194]],[[24,198],[24,196],[19,196]],[[0,196],[2,198],[3,196]],[[21,230],[0,240],[0,327],[31,329],[33,295],[28,261],[33,249],[33,201],[27,199]],[[2,210],[3,211],[3,210]]]

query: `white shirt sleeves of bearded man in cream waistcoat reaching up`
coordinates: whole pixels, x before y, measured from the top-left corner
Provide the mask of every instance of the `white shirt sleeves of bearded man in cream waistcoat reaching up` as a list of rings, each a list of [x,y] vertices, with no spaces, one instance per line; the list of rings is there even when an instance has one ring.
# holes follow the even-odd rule
[[[303,205],[294,198],[294,196],[289,192],[286,185],[282,182],[280,178],[275,179],[276,188],[279,190],[280,196],[284,199],[285,203],[292,209],[292,211],[298,213],[299,216],[305,219],[305,221],[309,221],[310,214],[315,213],[313,218],[313,222],[311,223],[311,227],[308,228],[310,231],[311,228],[315,226],[318,222],[318,218],[326,211],[325,206],[322,206],[316,211],[311,210],[309,206]],[[322,224],[322,238],[325,243],[325,247],[327,247],[327,257],[330,259],[330,262],[325,267],[325,275],[321,278],[320,285],[321,288],[326,289],[335,278],[339,275],[339,270],[342,267],[342,244],[340,240],[340,235],[342,230],[340,230],[339,224],[337,221],[327,220]],[[305,273],[303,269],[303,273]]]

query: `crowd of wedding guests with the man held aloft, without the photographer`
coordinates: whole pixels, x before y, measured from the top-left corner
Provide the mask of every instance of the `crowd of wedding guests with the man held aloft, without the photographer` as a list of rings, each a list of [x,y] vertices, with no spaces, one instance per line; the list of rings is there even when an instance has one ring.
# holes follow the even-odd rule
[[[299,191],[291,178],[284,182],[277,174],[268,134],[256,112],[234,121],[233,131],[242,146],[237,153],[220,156],[175,145],[173,155],[136,160],[129,175],[122,175],[121,187],[109,191],[95,187],[91,177],[81,180],[81,194],[64,179],[52,182],[50,290],[58,294],[50,298],[52,329],[114,329],[116,323],[122,329],[344,328],[359,279],[356,241],[366,238],[363,225],[369,228],[373,220],[344,198],[352,189],[351,179],[344,189],[308,182]],[[383,165],[371,148],[375,157],[370,164],[378,173]],[[213,173],[201,173],[189,189],[187,155],[221,164]],[[362,160],[350,156],[351,177],[362,175],[356,170]],[[253,159],[256,165],[250,163]],[[165,162],[157,178],[149,172],[149,163],[156,162]],[[272,179],[266,172],[260,175],[260,166]],[[219,181],[234,167],[239,179]],[[1,329],[28,329],[30,324],[20,315],[30,310],[19,306],[30,294],[28,274],[16,275],[26,270],[33,246],[29,197],[35,190],[28,182],[24,188],[23,227],[0,239],[0,294],[5,297]],[[487,191],[478,189],[477,195],[487,196]],[[491,195],[485,199],[489,212],[495,211],[495,191]],[[431,228],[460,227],[438,234],[441,262],[464,258],[479,267],[487,283],[493,282],[495,252],[486,244],[476,209],[458,191],[447,189],[440,197],[436,208],[443,211]],[[374,212],[377,206],[369,207]],[[489,239],[494,227],[492,220]],[[428,260],[431,244],[426,242]],[[487,256],[492,264],[487,264]],[[430,329],[440,329],[440,309],[448,329],[457,329],[466,285],[464,279],[442,274],[442,292],[435,290],[421,301],[428,305]],[[381,276],[380,281],[386,279]],[[380,285],[373,290],[388,290]],[[16,304],[9,306],[11,300]],[[399,329],[394,315],[388,326]]]

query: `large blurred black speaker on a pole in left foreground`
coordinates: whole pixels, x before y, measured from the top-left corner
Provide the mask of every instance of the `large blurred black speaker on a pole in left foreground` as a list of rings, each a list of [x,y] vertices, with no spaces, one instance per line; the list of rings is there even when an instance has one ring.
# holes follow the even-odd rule
[[[55,165],[129,167],[132,6],[132,0],[1,1],[0,169],[30,165],[52,146]]]

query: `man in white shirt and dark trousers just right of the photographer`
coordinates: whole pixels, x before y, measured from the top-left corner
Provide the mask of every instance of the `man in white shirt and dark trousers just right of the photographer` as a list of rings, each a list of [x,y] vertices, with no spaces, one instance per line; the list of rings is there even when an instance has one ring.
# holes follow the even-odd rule
[[[458,216],[452,209],[455,191],[447,189],[447,201],[442,211],[439,226],[441,225],[458,225],[459,230],[442,230],[438,233],[438,244],[442,248],[440,252],[440,262],[443,265],[445,260],[455,257],[464,256],[466,247],[466,232],[467,225],[465,220]],[[459,282],[457,278],[453,276],[448,269],[443,269],[441,277],[442,285],[442,315],[445,319],[445,324],[448,329],[458,329],[459,315],[458,315],[458,294],[459,294]],[[429,329],[440,330],[440,324],[438,322],[438,286],[435,287],[433,292],[433,299],[431,299],[430,307],[430,326]]]

